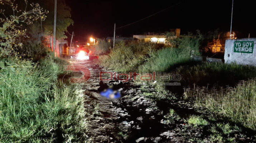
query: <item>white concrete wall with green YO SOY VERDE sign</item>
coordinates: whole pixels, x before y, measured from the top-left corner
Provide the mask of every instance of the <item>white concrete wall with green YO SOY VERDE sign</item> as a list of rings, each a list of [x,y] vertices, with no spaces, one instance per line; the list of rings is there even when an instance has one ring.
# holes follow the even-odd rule
[[[239,43],[241,43],[241,45]],[[251,48],[252,45],[250,44],[254,45],[253,50]],[[224,54],[225,63],[228,63],[228,64],[237,63],[242,65],[256,66],[256,46],[255,45],[256,45],[256,38],[226,40],[225,54]],[[234,48],[236,52],[234,51]]]

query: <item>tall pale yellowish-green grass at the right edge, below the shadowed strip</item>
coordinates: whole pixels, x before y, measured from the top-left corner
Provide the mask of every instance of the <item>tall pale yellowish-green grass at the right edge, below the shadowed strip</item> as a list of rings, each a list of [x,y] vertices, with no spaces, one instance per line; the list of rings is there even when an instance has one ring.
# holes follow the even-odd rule
[[[194,98],[198,107],[256,130],[256,79],[221,90],[194,87],[184,95]]]

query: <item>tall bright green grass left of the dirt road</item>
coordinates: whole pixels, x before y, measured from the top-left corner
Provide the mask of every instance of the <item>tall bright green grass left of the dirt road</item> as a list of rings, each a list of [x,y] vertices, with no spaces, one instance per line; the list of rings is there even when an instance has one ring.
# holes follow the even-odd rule
[[[0,142],[87,140],[82,90],[57,81],[53,60],[5,61],[17,66],[0,69]]]

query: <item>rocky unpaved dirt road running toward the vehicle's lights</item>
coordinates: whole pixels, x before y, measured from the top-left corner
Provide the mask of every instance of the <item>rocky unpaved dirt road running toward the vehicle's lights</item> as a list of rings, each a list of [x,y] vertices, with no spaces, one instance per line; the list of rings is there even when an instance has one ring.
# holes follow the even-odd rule
[[[83,85],[84,103],[88,122],[88,137],[91,143],[192,143],[199,138],[210,143],[208,128],[187,126],[184,118],[191,114],[201,115],[194,111],[191,103],[173,98],[166,93],[158,100],[145,96],[146,93],[161,95],[153,86],[134,86],[131,83],[106,81],[106,85],[115,85],[124,89],[120,99],[105,100],[98,93],[100,71],[104,67],[92,61],[75,62],[84,65],[91,71],[91,78]],[[109,71],[109,70],[108,70]],[[143,89],[143,90],[142,90]],[[169,109],[177,115],[168,119]],[[237,133],[238,134],[238,133]],[[243,136],[233,134],[237,142],[253,142]]]

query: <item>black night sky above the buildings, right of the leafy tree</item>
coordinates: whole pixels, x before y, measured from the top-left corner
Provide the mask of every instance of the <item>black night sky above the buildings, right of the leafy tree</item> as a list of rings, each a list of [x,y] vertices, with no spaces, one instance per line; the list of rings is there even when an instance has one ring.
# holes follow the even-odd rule
[[[116,30],[119,36],[164,32],[180,28],[182,34],[199,29],[202,33],[230,31],[232,0],[66,0],[70,6],[75,40],[113,36],[116,28],[133,23],[161,10],[148,19]],[[252,0],[234,0],[232,30],[238,38],[256,37],[256,11]],[[69,35],[68,35],[69,36]],[[71,36],[69,36],[70,39]]]

